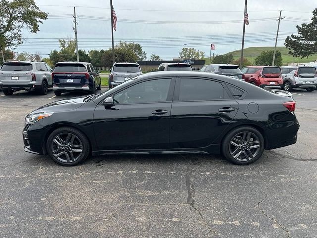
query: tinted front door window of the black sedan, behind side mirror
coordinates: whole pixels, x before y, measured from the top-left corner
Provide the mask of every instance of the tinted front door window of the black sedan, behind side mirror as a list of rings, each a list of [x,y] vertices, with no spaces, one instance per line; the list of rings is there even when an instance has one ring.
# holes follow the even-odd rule
[[[156,79],[133,85],[114,95],[117,104],[166,102],[171,79]]]

